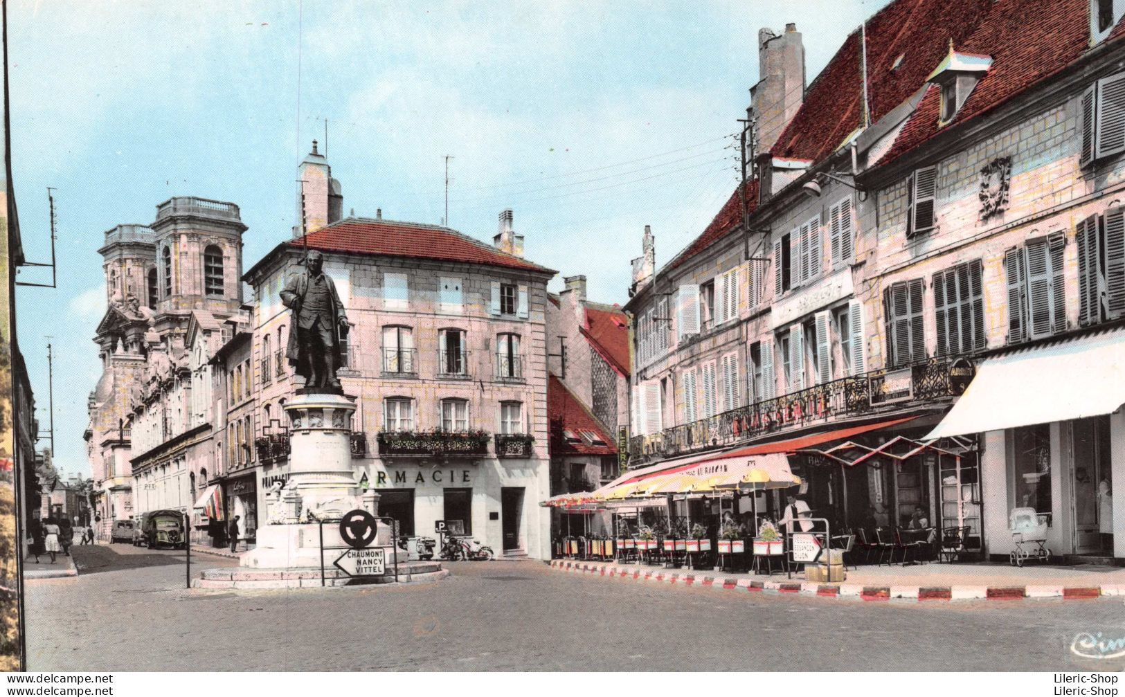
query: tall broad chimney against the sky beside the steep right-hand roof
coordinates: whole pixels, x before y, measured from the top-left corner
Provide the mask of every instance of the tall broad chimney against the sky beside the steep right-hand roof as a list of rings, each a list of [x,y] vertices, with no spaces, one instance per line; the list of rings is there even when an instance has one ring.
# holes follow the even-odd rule
[[[758,83],[750,88],[750,102],[757,119],[756,152],[770,152],[804,100],[804,45],[796,25],[785,25],[785,33],[758,30]]]

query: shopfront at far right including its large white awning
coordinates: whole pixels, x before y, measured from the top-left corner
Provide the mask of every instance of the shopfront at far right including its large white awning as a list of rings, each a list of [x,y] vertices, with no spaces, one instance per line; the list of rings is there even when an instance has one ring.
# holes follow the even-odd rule
[[[927,435],[980,434],[990,556],[1009,556],[1009,518],[1026,509],[1046,522],[1053,555],[1125,559],[1123,361],[1119,327],[998,353]]]

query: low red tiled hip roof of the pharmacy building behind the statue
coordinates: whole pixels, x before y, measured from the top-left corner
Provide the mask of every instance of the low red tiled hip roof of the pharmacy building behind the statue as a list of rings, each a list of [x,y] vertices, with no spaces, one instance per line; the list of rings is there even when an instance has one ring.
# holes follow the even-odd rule
[[[288,244],[291,247],[303,247],[306,241],[310,250],[322,252],[432,259],[555,273],[551,269],[506,254],[479,239],[436,225],[345,218],[322,227],[305,238],[292,239]]]

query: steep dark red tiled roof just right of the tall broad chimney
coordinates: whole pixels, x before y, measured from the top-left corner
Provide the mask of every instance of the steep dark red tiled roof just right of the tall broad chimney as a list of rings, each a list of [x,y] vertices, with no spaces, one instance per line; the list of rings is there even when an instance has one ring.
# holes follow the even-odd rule
[[[1028,0],[897,0],[871,17],[866,22],[871,123],[925,84],[926,76],[948,52],[950,39],[960,51],[963,38],[990,9],[1006,11],[1004,8],[1012,1],[1028,3]],[[1054,11],[1052,8],[1043,13]],[[1020,35],[1018,29],[1012,31],[1012,36]],[[862,109],[861,36],[856,29],[806,90],[801,108],[771,153],[819,162],[860,128]]]

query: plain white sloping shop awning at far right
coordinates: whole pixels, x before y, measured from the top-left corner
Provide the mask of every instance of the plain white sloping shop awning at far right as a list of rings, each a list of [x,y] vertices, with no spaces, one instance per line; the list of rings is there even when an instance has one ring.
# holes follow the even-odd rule
[[[1125,404],[1125,327],[986,359],[927,441],[1064,422]]]

